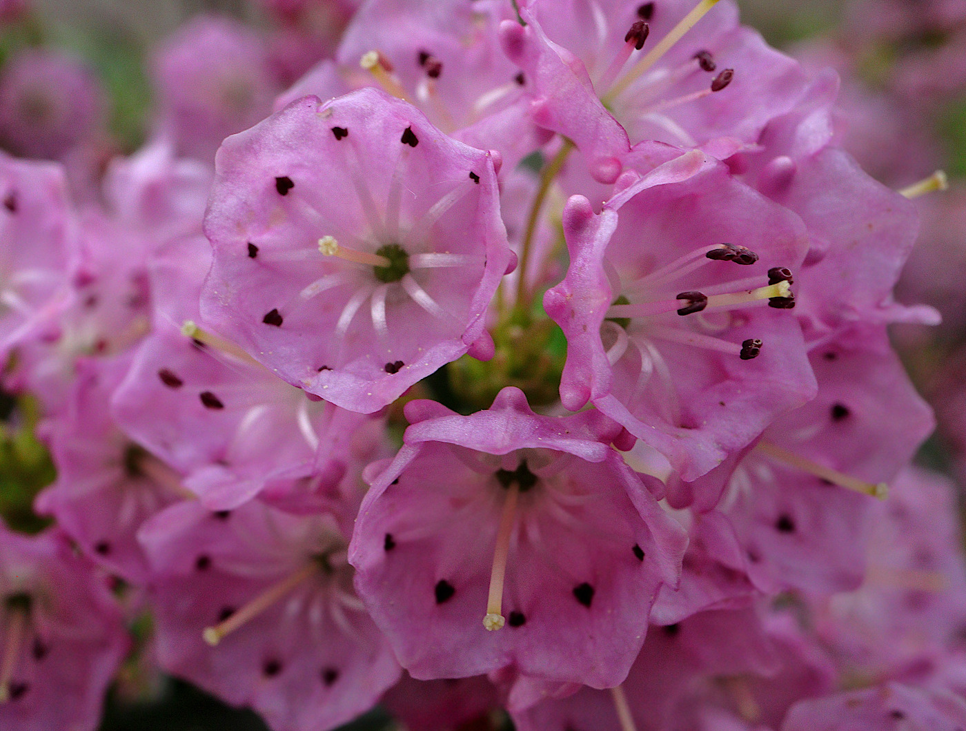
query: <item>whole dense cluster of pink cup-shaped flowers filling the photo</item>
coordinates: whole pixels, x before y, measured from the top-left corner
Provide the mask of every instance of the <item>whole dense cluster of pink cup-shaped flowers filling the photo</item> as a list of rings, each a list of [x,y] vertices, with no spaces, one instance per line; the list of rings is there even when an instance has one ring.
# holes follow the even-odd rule
[[[919,190],[838,76],[731,0],[264,4],[160,46],[109,162],[84,70],[4,69],[2,385],[56,479],[2,513],[0,728],[94,729],[122,661],[274,731],[966,727],[887,334],[938,321]]]

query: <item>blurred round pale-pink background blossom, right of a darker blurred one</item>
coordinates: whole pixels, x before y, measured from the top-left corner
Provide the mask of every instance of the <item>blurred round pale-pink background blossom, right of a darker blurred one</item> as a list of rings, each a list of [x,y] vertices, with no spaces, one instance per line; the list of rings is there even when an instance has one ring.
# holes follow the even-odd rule
[[[180,155],[203,161],[268,114],[277,92],[262,39],[226,17],[185,24],[156,52],[154,67],[158,132]]]

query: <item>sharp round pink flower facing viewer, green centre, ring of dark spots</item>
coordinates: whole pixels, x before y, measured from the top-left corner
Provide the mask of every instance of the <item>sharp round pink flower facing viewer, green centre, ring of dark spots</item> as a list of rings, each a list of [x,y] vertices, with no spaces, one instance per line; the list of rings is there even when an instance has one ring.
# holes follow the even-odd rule
[[[493,156],[361,89],[227,140],[205,320],[289,383],[371,413],[465,353],[512,265]]]

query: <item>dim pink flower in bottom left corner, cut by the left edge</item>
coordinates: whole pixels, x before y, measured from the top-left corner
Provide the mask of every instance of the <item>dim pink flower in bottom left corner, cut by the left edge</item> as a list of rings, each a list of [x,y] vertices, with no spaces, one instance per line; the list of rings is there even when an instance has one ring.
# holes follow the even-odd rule
[[[0,727],[94,731],[128,650],[104,577],[55,529],[0,523]]]

